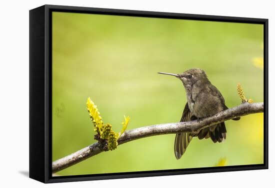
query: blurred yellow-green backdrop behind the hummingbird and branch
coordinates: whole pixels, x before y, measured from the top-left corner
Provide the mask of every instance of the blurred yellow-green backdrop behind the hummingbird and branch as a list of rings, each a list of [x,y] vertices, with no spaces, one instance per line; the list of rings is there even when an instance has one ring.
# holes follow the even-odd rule
[[[240,104],[236,84],[247,98],[263,101],[263,25],[84,13],[52,13],[52,159],[95,140],[87,97],[104,123],[120,131],[177,122],[186,103],[180,80],[156,72],[204,69],[226,105]],[[174,134],[119,145],[57,175],[143,171],[263,163],[263,114],[226,121],[222,143],[193,138],[181,159]]]

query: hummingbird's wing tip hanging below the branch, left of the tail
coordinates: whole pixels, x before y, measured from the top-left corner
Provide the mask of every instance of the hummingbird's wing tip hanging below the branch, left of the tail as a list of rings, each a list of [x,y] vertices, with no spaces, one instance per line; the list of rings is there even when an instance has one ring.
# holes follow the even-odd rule
[[[192,136],[188,132],[181,132],[175,135],[174,154],[176,159],[179,159],[183,155],[191,140]]]

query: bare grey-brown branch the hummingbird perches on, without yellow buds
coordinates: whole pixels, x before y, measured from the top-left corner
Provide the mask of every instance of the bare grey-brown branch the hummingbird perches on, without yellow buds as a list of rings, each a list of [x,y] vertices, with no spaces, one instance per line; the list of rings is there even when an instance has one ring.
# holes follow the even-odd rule
[[[235,117],[248,115],[251,113],[263,112],[263,102],[259,103],[243,103],[238,106],[221,111],[213,116],[188,122],[173,122],[165,124],[156,124],[150,126],[143,126],[140,128],[131,129],[125,131],[117,140],[118,144],[122,144],[135,139],[160,135],[160,134],[172,134],[177,132],[191,132],[194,135],[202,128],[214,125],[225,120],[229,120]],[[63,158],[52,162],[52,173],[67,168],[73,164],[76,164],[88,157],[96,155],[102,152],[99,148],[98,142],[95,142],[87,147],[84,147],[74,153],[71,153]]]

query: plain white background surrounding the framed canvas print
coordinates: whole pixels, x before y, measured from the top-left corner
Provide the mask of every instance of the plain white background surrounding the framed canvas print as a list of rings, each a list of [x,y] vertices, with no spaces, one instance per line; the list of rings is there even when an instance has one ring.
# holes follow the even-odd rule
[[[28,178],[28,10],[43,4],[269,19],[269,169],[43,184]],[[0,187],[261,187],[274,182],[274,5],[272,0],[29,0],[1,1]],[[251,83],[253,84],[253,83]],[[256,91],[255,91],[256,92]],[[42,100],[42,98],[41,98]],[[232,151],[233,152],[233,151]],[[199,151],[198,153],[199,154]],[[237,154],[237,153],[236,153]]]

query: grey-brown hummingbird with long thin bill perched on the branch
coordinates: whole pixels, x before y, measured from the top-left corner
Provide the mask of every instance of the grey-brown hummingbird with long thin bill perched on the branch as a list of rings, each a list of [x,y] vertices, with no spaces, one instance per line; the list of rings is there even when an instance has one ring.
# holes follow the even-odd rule
[[[195,119],[199,121],[200,118],[212,116],[228,109],[220,91],[211,84],[204,70],[191,68],[179,74],[157,73],[175,76],[183,83],[187,102],[183,109],[180,122]],[[239,119],[240,117],[233,118],[233,120]],[[180,132],[175,135],[174,154],[176,159],[179,159],[183,155],[192,137],[189,132]],[[226,138],[225,123],[220,122],[203,128],[198,132],[197,137],[198,139],[211,138],[214,143],[222,142]]]

